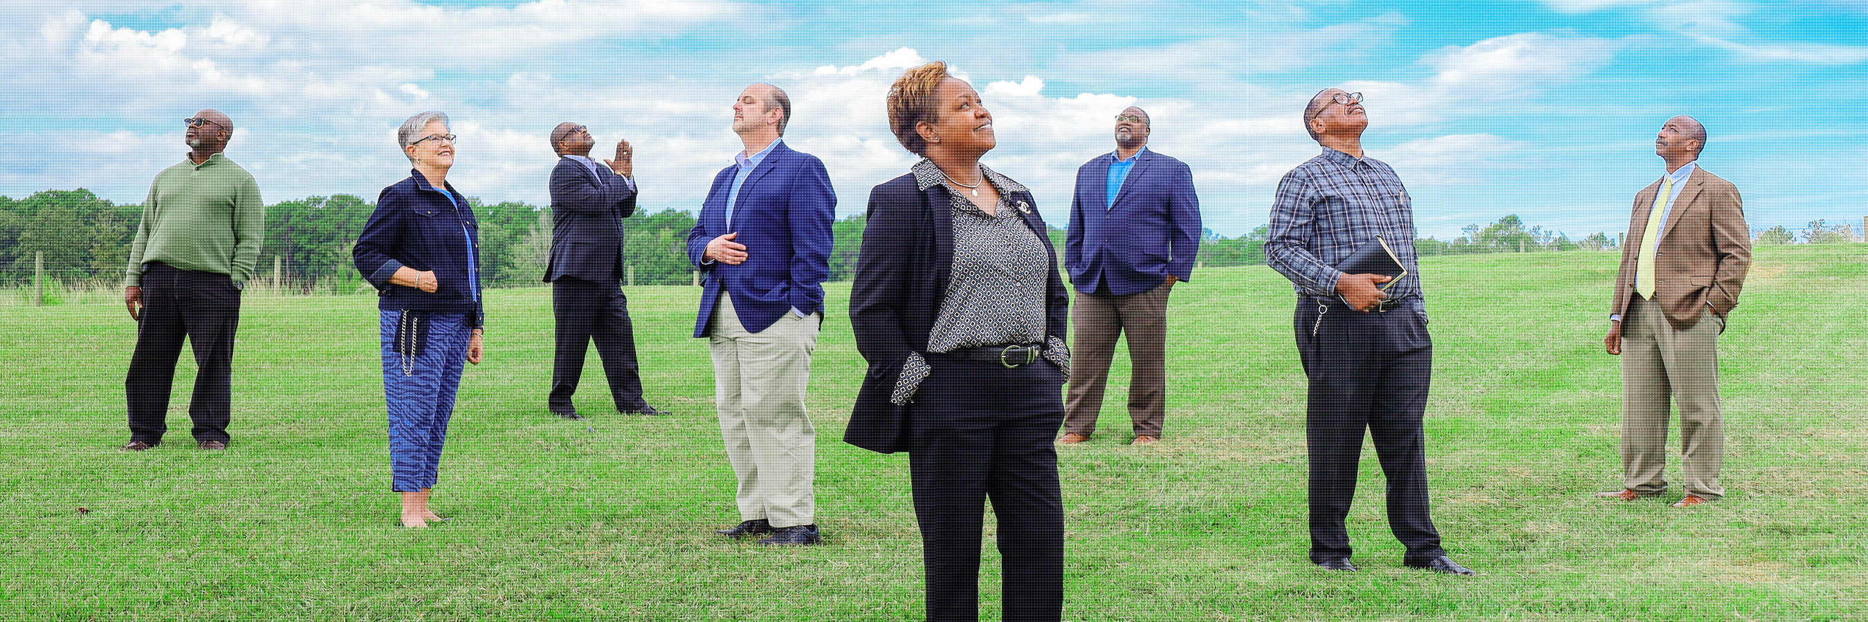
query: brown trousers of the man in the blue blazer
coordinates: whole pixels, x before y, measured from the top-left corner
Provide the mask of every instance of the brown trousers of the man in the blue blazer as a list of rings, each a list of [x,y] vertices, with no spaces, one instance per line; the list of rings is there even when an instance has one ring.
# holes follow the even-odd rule
[[[1070,325],[1070,389],[1063,402],[1063,431],[1091,435],[1102,411],[1102,390],[1115,359],[1115,338],[1128,332],[1128,418],[1136,435],[1160,437],[1168,418],[1168,291],[1158,286],[1130,295],[1076,293]]]

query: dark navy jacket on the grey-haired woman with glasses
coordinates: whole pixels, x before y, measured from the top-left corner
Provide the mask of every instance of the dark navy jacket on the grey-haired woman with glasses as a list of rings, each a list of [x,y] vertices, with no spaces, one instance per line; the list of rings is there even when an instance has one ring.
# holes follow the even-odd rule
[[[452,200],[450,200],[452,196]],[[480,224],[467,198],[446,185],[446,192],[428,185],[411,170],[375,198],[375,213],[362,224],[351,260],[362,278],[375,286],[377,308],[467,314],[474,329],[484,325],[480,304]],[[433,271],[433,293],[389,284],[398,267]]]

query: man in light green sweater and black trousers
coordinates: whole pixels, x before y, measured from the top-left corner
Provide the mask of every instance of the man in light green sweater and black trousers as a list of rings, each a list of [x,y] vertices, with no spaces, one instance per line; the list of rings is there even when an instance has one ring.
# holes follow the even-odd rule
[[[127,452],[157,446],[168,431],[168,390],[183,338],[200,368],[189,400],[194,443],[204,450],[228,446],[239,293],[260,260],[265,207],[252,176],[220,155],[234,121],[202,110],[185,123],[189,159],[149,183],[123,276],[123,306],[136,321],[123,383]]]

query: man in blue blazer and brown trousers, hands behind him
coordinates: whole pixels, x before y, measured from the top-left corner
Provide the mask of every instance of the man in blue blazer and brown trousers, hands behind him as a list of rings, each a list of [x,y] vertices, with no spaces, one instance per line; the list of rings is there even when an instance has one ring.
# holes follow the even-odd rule
[[[1199,252],[1199,196],[1194,172],[1149,151],[1149,114],[1115,116],[1115,151],[1076,170],[1063,263],[1076,288],[1070,323],[1076,355],[1065,394],[1065,435],[1089,441],[1102,411],[1115,338],[1128,332],[1128,418],[1136,445],[1156,443],[1168,417],[1168,291],[1194,275]]]

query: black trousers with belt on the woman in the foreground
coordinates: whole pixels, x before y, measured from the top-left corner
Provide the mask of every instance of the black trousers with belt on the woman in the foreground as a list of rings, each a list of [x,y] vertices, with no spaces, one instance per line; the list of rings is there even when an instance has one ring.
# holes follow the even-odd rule
[[[930,622],[979,618],[984,502],[999,527],[1005,620],[1063,616],[1063,491],[1052,433],[1063,374],[928,355],[915,390],[908,469]]]

